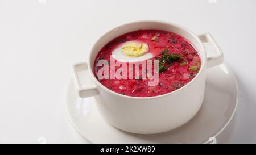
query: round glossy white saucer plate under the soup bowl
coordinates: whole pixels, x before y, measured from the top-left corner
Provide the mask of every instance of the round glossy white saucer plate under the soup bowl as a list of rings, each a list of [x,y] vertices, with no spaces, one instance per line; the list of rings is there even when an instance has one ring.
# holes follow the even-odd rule
[[[89,85],[86,74],[80,76],[84,85]],[[238,102],[236,78],[226,64],[221,64],[207,70],[203,105],[188,123],[169,132],[139,135],[112,127],[99,114],[93,97],[82,99],[76,92],[73,81],[69,81],[65,102],[68,116],[77,131],[92,143],[207,143],[225,129]]]

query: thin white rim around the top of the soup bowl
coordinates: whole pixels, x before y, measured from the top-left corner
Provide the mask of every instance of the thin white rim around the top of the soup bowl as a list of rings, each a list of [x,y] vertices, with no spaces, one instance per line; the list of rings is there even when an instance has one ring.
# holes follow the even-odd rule
[[[203,63],[201,63],[201,68],[199,70],[199,72],[196,74],[196,76],[191,80],[189,81],[185,86],[183,87],[180,87],[179,89],[175,90],[175,91],[171,91],[170,93],[166,93],[166,94],[162,94],[162,95],[156,95],[156,96],[152,96],[152,97],[132,97],[132,96],[128,96],[128,95],[123,95],[123,94],[119,94],[119,93],[116,93],[115,91],[113,90],[110,90],[108,89],[107,87],[105,87],[104,85],[102,85],[102,83],[100,81],[98,81],[96,79],[96,77],[94,76],[93,72],[92,72],[92,68],[90,66],[90,57],[92,56],[92,49],[96,46],[98,40],[101,40],[106,34],[116,30],[117,28],[120,28],[120,27],[123,27],[123,26],[126,26],[126,25],[129,25],[129,24],[136,24],[136,23],[142,23],[142,22],[155,22],[155,23],[160,23],[160,24],[168,24],[168,25],[172,25],[174,27],[178,27],[178,28],[181,28],[183,31],[186,31],[188,33],[191,33],[191,35],[193,37],[195,37],[195,39],[197,41],[199,41],[200,45],[201,45],[201,48],[203,49],[203,56],[205,57],[205,61],[203,61]],[[189,41],[189,40],[188,40]],[[179,24],[175,24],[175,23],[171,23],[171,22],[164,22],[162,20],[137,20],[137,21],[134,21],[134,22],[129,22],[129,23],[125,23],[125,24],[121,24],[120,26],[117,26],[117,27],[114,27],[112,28],[111,30],[109,30],[108,32],[105,32],[104,35],[102,35],[99,39],[97,39],[97,41],[93,44],[92,46],[92,49],[90,51],[90,55],[88,57],[88,70],[89,70],[89,74],[90,76],[93,78],[94,82],[97,83],[97,85],[99,85],[102,89],[105,89],[106,91],[108,91],[109,93],[112,93],[114,95],[118,95],[119,97],[124,97],[124,98],[131,98],[131,99],[154,99],[154,98],[161,98],[161,97],[166,97],[168,95],[171,95],[171,94],[175,94],[181,90],[184,90],[186,89],[186,87],[190,86],[193,82],[195,82],[197,80],[197,77],[200,76],[200,74],[203,72],[203,69],[205,68],[205,63],[207,61],[207,57],[206,57],[206,51],[205,51],[205,47],[204,47],[204,44],[203,42],[199,39],[199,37],[193,33],[192,31],[188,30],[187,28],[183,27],[183,26],[180,26]],[[201,58],[201,57],[200,57]]]

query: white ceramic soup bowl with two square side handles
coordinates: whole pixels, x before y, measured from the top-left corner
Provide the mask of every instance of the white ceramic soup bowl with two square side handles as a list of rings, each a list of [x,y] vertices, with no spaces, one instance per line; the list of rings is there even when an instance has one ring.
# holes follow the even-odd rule
[[[115,93],[102,85],[93,74],[98,51],[114,37],[139,29],[170,31],[187,39],[201,58],[201,68],[196,77],[180,89],[155,97],[130,97]],[[209,43],[214,48],[215,56],[206,56],[203,43]],[[105,33],[93,45],[88,62],[73,65],[73,73],[79,96],[94,96],[96,107],[106,122],[123,131],[152,134],[170,131],[193,118],[203,103],[205,71],[222,62],[221,49],[209,33],[197,36],[174,23],[147,20],[123,24]],[[81,86],[77,73],[81,70],[88,70],[93,87]]]

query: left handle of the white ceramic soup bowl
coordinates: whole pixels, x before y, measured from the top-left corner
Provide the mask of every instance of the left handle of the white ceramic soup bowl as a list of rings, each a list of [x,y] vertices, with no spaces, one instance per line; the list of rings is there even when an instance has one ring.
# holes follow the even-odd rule
[[[75,64],[72,66],[72,70],[73,70],[73,77],[74,77],[74,82],[75,85],[77,87],[78,90],[78,94],[79,97],[81,98],[86,98],[86,97],[92,97],[95,95],[99,94],[98,89],[96,88],[96,86],[92,86],[92,87],[83,87],[81,85],[79,76],[78,76],[78,72],[84,71],[84,70],[88,70],[88,65],[87,63],[79,63],[79,64]]]

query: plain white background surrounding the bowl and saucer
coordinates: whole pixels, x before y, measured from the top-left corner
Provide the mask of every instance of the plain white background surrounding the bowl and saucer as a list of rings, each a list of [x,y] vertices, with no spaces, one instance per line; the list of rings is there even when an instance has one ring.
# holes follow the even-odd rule
[[[237,77],[236,115],[221,143],[256,143],[256,1],[0,0],[0,143],[88,143],[65,112],[71,65],[120,24],[174,22],[212,33]]]

